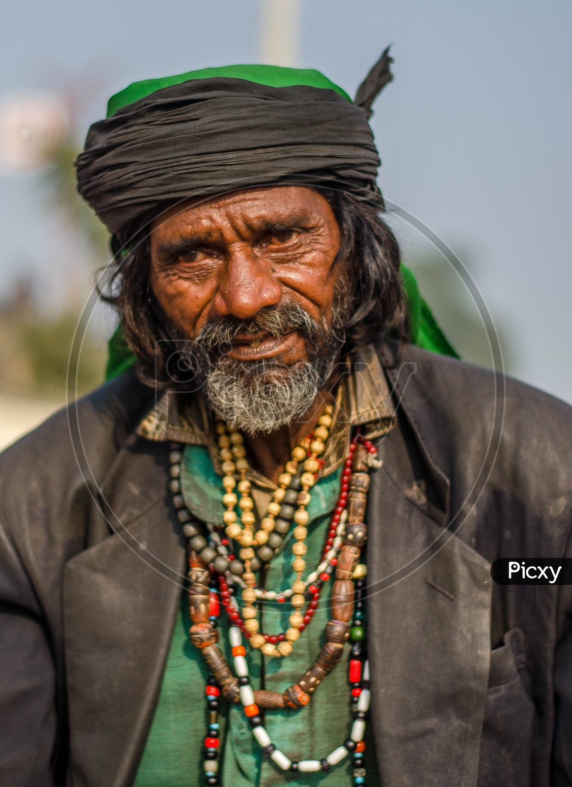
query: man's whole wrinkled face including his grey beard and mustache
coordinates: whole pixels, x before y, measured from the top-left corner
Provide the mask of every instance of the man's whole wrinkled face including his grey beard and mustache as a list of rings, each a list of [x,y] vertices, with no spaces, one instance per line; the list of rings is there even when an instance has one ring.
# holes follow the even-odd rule
[[[341,346],[345,265],[334,212],[304,187],[171,211],[151,230],[153,292],[234,426],[268,434],[306,412]]]

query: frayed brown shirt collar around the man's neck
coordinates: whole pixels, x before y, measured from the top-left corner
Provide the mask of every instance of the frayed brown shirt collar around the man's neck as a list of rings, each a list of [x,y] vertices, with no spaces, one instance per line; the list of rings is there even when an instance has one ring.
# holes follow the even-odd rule
[[[339,371],[334,391],[334,423],[323,454],[322,476],[337,470],[344,461],[352,427],[362,426],[363,434],[371,440],[386,434],[395,423],[389,386],[373,345],[356,349],[341,362]],[[182,399],[179,393],[164,391],[139,423],[137,434],[159,442],[205,445],[216,473],[223,475],[212,417],[201,393]],[[274,483],[252,468],[247,478],[263,488],[275,489]]]

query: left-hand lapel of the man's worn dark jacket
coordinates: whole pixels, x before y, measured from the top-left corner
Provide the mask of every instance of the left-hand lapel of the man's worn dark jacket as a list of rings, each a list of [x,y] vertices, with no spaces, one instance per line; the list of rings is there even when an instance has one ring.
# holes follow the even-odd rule
[[[115,532],[65,567],[73,785],[130,785],[153,719],[185,569],[167,455],[140,439],[119,453],[101,490]]]

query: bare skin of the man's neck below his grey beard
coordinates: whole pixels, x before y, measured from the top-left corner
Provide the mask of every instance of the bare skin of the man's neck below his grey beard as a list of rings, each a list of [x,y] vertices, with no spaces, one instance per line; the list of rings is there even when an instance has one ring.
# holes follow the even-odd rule
[[[288,426],[280,427],[269,434],[256,434],[254,437],[245,434],[244,439],[253,467],[271,481],[278,482],[284,465],[290,460],[292,449],[314,430],[324,408],[332,403],[330,393],[324,389],[318,394],[312,407]]]

